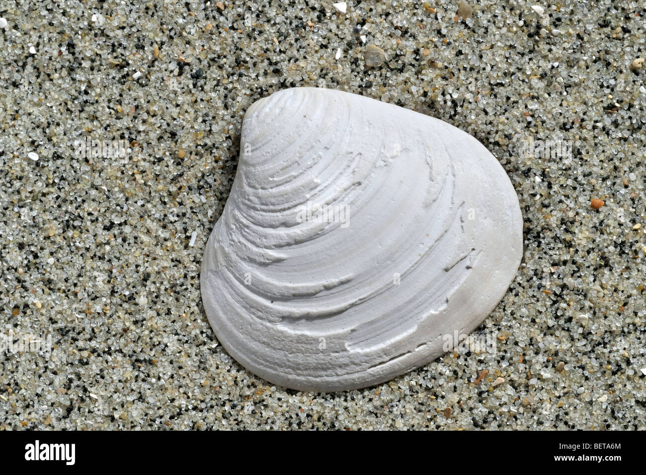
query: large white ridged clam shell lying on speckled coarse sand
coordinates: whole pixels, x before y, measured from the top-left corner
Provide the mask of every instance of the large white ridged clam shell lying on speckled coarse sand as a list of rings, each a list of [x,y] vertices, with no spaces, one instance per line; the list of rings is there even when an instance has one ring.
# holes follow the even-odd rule
[[[362,388],[457,347],[514,279],[522,236],[514,187],[472,136],[348,92],[282,90],[245,114],[202,301],[254,374]]]

